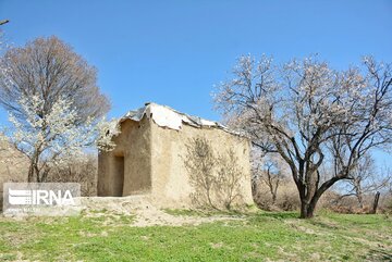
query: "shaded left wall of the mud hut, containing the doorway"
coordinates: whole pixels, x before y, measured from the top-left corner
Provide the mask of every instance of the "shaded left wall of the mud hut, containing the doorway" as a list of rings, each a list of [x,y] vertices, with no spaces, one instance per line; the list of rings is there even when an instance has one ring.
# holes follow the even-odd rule
[[[150,121],[126,120],[111,152],[98,157],[98,196],[130,196],[151,190]]]

